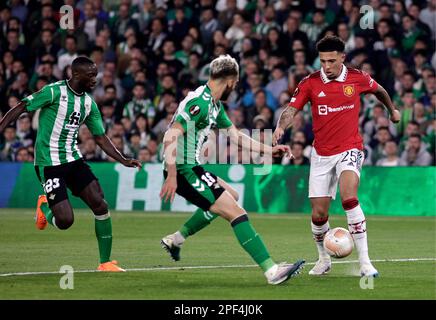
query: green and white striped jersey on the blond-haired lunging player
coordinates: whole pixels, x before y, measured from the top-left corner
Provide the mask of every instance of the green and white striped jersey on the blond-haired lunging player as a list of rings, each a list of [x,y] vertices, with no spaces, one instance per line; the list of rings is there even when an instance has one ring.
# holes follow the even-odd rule
[[[188,93],[180,102],[173,121],[179,122],[185,131],[177,144],[177,170],[200,164],[200,151],[211,129],[232,125],[223,104],[213,101],[207,85]]]

